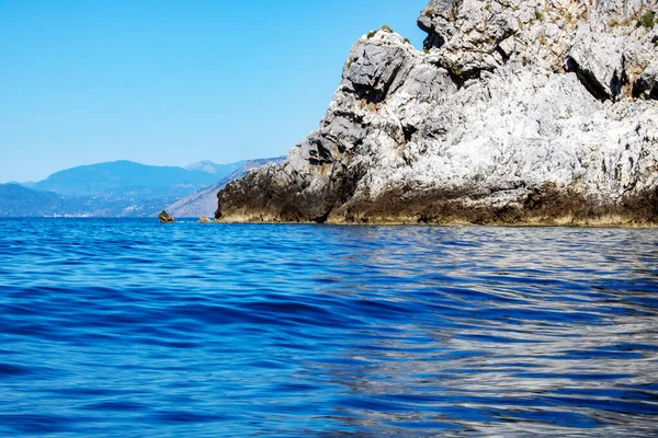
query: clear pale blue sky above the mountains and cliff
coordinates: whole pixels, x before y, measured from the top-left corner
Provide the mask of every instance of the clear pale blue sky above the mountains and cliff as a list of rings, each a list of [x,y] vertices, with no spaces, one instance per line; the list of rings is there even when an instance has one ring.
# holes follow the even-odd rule
[[[424,0],[0,0],[0,183],[287,153],[352,44]]]

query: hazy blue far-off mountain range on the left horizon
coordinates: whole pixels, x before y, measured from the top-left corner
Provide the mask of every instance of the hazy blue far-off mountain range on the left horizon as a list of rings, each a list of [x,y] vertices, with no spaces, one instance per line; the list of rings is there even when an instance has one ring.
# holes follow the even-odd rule
[[[211,161],[188,168],[132,161],[81,165],[27,184],[0,185],[0,217],[148,217],[243,166]]]

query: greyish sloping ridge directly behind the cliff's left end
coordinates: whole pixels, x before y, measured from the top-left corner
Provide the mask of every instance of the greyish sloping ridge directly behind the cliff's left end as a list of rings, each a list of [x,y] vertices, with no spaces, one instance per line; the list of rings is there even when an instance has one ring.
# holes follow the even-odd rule
[[[177,200],[166,208],[173,217],[179,218],[198,218],[202,216],[213,217],[217,209],[217,192],[232,180],[242,177],[252,169],[262,168],[269,163],[281,164],[285,157],[264,158],[259,160],[248,160],[231,174],[225,176],[217,183],[205,187],[190,196]]]

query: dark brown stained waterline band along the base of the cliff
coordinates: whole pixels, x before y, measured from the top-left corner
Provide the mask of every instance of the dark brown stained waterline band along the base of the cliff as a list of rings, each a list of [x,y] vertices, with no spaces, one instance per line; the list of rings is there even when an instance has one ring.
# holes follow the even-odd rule
[[[293,196],[292,201],[272,198],[259,206],[243,194],[242,205],[240,201],[220,204],[215,220],[234,223],[658,227],[658,194],[654,191],[622,196],[613,204],[602,201],[593,194],[587,196],[570,189],[523,191],[513,200],[504,203],[496,199],[497,195],[388,192],[374,199],[353,197],[334,206],[327,206],[321,198]]]

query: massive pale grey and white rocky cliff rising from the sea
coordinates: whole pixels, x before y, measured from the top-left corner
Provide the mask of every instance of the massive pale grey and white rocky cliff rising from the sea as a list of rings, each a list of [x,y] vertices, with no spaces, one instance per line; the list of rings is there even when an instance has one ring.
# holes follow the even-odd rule
[[[655,224],[657,2],[432,0],[424,50],[360,38],[319,129],[216,217]]]

